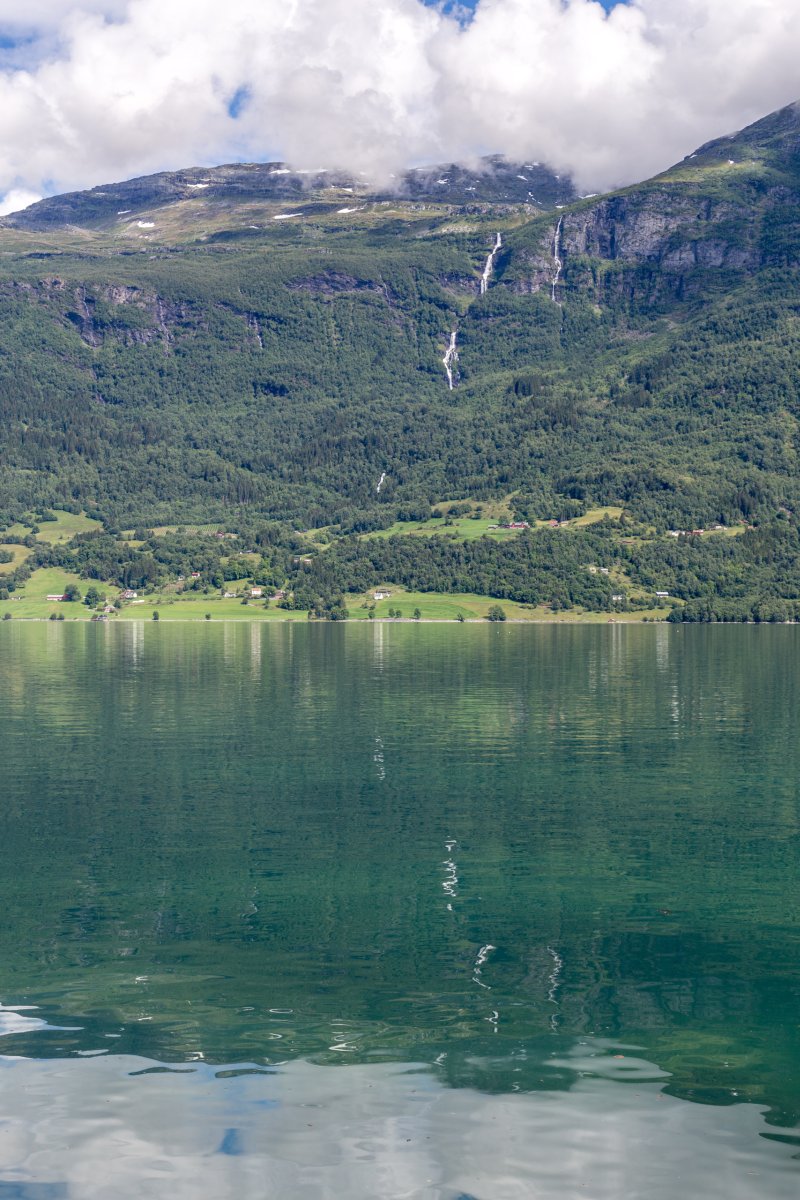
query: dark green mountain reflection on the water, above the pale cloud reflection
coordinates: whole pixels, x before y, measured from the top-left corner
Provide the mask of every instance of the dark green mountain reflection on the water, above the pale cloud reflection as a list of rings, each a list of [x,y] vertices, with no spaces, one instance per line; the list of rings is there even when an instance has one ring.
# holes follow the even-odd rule
[[[6,1001],[500,1090],[639,1038],[796,1108],[795,630],[7,626]]]

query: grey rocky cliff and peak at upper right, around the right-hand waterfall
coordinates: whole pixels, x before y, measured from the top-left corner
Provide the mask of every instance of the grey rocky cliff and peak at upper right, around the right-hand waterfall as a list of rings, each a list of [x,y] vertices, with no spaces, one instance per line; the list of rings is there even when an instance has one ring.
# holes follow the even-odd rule
[[[531,236],[533,234],[533,236]],[[552,287],[552,218],[510,238],[503,281],[518,293]],[[639,187],[561,214],[559,287],[631,296],[690,294],[704,272],[800,266],[800,109],[789,106],[717,139]]]

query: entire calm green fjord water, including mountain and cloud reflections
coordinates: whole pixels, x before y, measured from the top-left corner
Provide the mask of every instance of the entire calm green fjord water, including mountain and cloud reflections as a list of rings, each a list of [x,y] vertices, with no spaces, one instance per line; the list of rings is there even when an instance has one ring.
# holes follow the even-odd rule
[[[789,626],[0,626],[0,1198],[800,1184]]]

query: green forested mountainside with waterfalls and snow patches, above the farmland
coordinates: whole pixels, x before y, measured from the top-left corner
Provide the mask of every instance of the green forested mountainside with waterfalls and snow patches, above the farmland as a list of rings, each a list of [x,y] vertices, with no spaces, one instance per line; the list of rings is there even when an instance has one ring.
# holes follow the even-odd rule
[[[608,505],[628,582],[742,598],[753,538],[664,538],[795,535],[798,266],[796,106],[601,197],[492,160],[384,193],[266,164],[43,200],[0,228],[0,514],[277,521],[325,530],[330,564],[336,539],[443,502]],[[680,563],[648,568],[652,538]],[[452,587],[440,542],[395,569]],[[387,578],[377,547],[354,553]],[[506,566],[474,569],[505,594]],[[781,570],[769,594],[800,596]]]

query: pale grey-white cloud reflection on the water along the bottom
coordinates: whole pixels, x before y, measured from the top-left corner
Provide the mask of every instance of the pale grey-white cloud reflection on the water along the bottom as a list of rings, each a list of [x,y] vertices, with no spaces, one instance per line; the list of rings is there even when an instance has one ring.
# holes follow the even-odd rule
[[[794,1200],[793,1147],[758,1136],[754,1105],[678,1100],[657,1068],[612,1062],[576,1048],[570,1091],[488,1096],[408,1064],[4,1058],[0,1172],[74,1200]]]

